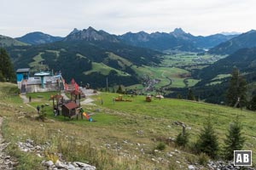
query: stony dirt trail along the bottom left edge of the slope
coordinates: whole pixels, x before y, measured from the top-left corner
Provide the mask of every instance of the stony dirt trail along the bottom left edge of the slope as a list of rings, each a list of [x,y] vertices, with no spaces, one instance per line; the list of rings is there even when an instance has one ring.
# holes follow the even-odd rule
[[[11,156],[6,155],[4,152],[4,149],[8,146],[7,143],[5,143],[3,136],[2,136],[2,122],[3,117],[0,117],[0,169],[14,169],[14,166],[17,165],[16,162],[11,161],[13,160]]]

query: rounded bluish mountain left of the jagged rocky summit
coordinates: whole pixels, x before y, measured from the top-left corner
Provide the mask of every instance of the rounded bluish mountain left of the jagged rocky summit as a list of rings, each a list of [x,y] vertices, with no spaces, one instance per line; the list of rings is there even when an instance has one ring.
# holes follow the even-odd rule
[[[35,32],[28,33],[22,37],[16,37],[15,39],[20,42],[25,42],[32,45],[38,45],[43,43],[61,41],[63,37],[54,37],[40,31],[35,31]]]

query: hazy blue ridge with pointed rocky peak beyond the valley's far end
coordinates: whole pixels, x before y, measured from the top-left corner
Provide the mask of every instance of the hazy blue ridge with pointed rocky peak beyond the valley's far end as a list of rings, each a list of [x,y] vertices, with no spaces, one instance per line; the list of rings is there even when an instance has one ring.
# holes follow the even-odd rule
[[[230,40],[237,35],[222,35],[215,34],[207,37],[195,37],[190,33],[186,33],[181,28],[176,28],[170,33],[154,32],[148,34],[144,31],[137,33],[127,32],[119,36],[124,42],[143,48],[151,48],[155,50],[179,50],[179,51],[192,51],[200,52],[204,48],[212,48],[221,42]]]

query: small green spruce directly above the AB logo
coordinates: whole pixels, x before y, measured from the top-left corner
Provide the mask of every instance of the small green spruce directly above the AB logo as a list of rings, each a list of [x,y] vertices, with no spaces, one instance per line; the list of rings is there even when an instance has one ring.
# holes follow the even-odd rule
[[[224,139],[224,158],[227,161],[231,161],[234,156],[234,150],[241,150],[245,142],[245,138],[241,133],[241,123],[238,116],[236,116],[236,122],[230,124],[229,132]]]

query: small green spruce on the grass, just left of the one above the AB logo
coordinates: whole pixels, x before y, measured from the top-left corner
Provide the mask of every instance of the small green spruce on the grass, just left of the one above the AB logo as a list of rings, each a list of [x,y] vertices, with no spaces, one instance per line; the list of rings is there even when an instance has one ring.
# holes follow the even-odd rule
[[[212,158],[218,156],[218,137],[212,126],[211,116],[208,117],[195,145],[200,153],[206,153]]]

